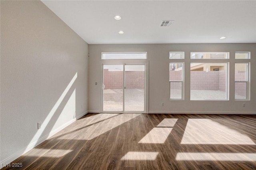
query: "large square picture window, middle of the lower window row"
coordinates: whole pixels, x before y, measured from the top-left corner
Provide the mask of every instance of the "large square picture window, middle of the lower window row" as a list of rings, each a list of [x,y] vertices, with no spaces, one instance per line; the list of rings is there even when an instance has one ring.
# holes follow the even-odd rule
[[[190,100],[228,100],[228,63],[190,63]]]

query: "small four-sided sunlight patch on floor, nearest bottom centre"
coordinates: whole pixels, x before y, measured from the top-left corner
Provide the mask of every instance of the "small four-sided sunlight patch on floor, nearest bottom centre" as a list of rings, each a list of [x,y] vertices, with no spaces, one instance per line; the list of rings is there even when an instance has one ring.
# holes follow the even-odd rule
[[[155,160],[158,152],[128,152],[121,160]]]

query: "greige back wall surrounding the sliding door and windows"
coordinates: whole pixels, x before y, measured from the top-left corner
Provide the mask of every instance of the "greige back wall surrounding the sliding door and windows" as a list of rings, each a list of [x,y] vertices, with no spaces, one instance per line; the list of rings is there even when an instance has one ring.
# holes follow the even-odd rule
[[[148,113],[241,113],[256,114],[256,43],[214,43],[214,44],[123,44],[89,45],[89,111],[100,112],[101,52],[147,52],[149,62]],[[169,51],[184,51],[185,59],[169,59]],[[214,59],[212,62],[229,62],[228,101],[190,101],[190,62],[201,63],[204,59],[190,59],[191,51],[230,52],[230,59]],[[235,59],[235,51],[251,51],[251,59]],[[169,62],[184,62],[184,100],[169,100]],[[235,62],[251,63],[250,101],[236,101]],[[108,64],[110,62],[108,61]],[[223,79],[219,76],[219,81]],[[225,91],[219,84],[219,89]],[[161,106],[164,103],[164,106]],[[246,107],[243,107],[243,103]]]

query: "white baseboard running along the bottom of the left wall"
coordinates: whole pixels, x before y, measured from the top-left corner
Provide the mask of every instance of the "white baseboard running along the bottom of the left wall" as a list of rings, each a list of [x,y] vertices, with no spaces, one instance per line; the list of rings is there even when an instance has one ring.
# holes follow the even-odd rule
[[[20,156],[22,156],[23,154],[25,154],[26,152],[28,152],[29,150],[33,149],[34,147],[36,147],[37,145],[41,144],[42,142],[44,142],[45,140],[47,140],[48,138],[50,138],[51,136],[53,136],[54,134],[58,133],[60,130],[64,129],[65,127],[67,127],[68,125],[70,125],[71,123],[73,123],[74,121],[76,121],[77,119],[79,119],[80,117],[86,115],[88,113],[88,111],[76,116],[74,119],[68,121],[67,123],[65,123],[64,125],[56,128],[55,130],[53,130],[52,132],[46,134],[45,136],[43,136],[42,138],[36,140],[35,142],[33,142],[32,144],[29,144],[28,146],[26,146],[25,148],[18,150],[16,153],[12,154],[11,156],[9,156],[8,158],[2,160],[0,162],[1,164],[1,168],[3,168],[4,164],[10,163],[14,160],[16,160],[17,158],[19,158]]]

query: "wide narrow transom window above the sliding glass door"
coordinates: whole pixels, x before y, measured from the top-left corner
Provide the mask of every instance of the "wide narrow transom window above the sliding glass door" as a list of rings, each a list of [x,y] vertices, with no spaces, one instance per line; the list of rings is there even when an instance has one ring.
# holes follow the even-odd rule
[[[147,53],[102,53],[101,59],[147,59]]]

